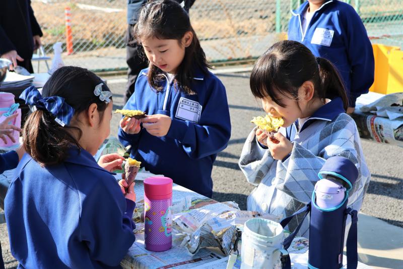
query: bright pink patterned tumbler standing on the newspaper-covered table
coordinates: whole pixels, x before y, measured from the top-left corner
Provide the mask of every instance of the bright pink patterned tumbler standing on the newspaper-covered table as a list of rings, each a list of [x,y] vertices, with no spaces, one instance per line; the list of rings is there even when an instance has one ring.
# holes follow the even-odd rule
[[[172,179],[144,180],[145,245],[147,250],[165,251],[172,246]]]

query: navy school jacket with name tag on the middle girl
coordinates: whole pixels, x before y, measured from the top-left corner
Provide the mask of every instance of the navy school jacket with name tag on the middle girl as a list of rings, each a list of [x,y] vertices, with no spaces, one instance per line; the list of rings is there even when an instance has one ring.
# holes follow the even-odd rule
[[[177,91],[173,82],[167,85],[166,81],[162,82],[163,91],[158,92],[148,83],[147,72],[140,73],[136,91],[124,109],[167,115],[172,119],[171,127],[163,137],[152,136],[144,128],[139,134],[127,134],[119,128],[120,142],[131,145],[130,156],[146,170],[211,197],[213,163],[231,136],[224,85],[211,72],[205,75],[195,70],[191,88],[196,94]]]

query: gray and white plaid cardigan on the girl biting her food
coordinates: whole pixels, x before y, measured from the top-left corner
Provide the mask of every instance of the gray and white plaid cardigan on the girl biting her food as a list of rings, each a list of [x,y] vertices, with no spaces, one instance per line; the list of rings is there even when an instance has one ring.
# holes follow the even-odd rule
[[[292,128],[296,129],[294,125]],[[358,168],[358,179],[349,193],[348,206],[360,210],[370,173],[357,126],[350,116],[342,113],[332,121],[318,119],[301,133],[297,132],[291,155],[284,162],[273,159],[270,150],[259,145],[255,130],[248,135],[239,159],[239,167],[247,181],[257,186],[248,197],[248,210],[290,216],[311,200],[315,183],[319,179],[317,173],[327,158],[337,155],[349,158]],[[281,128],[280,132],[285,135],[285,130]],[[291,232],[302,217],[298,216],[290,222],[288,229]],[[307,238],[308,217],[299,233]]]

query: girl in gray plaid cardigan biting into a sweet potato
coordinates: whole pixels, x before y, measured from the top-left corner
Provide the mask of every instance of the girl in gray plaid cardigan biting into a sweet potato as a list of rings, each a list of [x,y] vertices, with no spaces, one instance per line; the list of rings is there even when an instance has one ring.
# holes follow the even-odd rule
[[[264,111],[282,117],[284,124],[274,137],[255,128],[246,139],[239,166],[247,181],[256,186],[247,209],[290,216],[310,202],[325,160],[343,156],[359,172],[348,206],[360,210],[370,174],[357,126],[346,114],[346,91],[333,65],[315,58],[299,42],[280,41],[257,61],[250,88],[261,99]],[[289,223],[290,231],[302,217]],[[308,233],[306,218],[300,235],[308,237]]]

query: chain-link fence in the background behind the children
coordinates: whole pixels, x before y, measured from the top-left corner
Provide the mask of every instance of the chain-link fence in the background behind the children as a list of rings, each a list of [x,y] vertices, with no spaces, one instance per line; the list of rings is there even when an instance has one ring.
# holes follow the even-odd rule
[[[211,63],[259,57],[274,42],[286,38],[290,9],[301,0],[196,0],[190,18]],[[403,1],[345,0],[360,14],[373,42],[403,45]],[[47,55],[63,42],[64,9],[71,9],[74,53],[65,64],[91,70],[126,68],[124,34],[126,0],[33,0]]]

